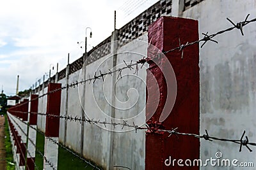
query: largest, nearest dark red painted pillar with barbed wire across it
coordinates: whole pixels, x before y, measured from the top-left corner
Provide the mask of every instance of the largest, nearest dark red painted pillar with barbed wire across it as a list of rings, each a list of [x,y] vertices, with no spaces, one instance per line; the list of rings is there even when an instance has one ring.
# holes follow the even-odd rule
[[[161,17],[148,28],[148,42],[159,48],[161,51],[168,51],[176,48],[180,44],[186,44],[198,40],[198,22],[186,18]],[[148,58],[153,59],[148,48]],[[165,54],[166,57],[158,59],[157,65],[149,61],[149,68],[152,74],[147,74],[147,89],[156,90],[157,85],[153,85],[152,78],[156,78],[159,97],[148,91],[146,117],[152,107],[152,103],[159,98],[156,113],[148,120],[147,124],[152,129],[166,129],[178,127],[178,132],[199,133],[199,46],[198,44],[184,48],[182,52],[175,50]],[[156,56],[155,56],[156,57]],[[173,96],[173,87],[166,85],[166,78],[163,72],[167,70],[166,63],[170,62],[177,81],[177,97],[170,115],[163,121],[159,121],[164,108],[167,96]],[[172,83],[174,83],[173,81]],[[168,89],[169,88],[169,89]],[[168,89],[169,94],[166,94]],[[154,92],[153,92],[154,94]],[[146,157],[145,169],[199,169],[198,166],[178,166],[177,160],[199,159],[200,141],[198,138],[189,136],[178,136],[164,132],[147,132],[146,134]],[[176,159],[174,164],[168,164]],[[167,160],[166,160],[167,159]],[[164,164],[166,162],[166,164]]]

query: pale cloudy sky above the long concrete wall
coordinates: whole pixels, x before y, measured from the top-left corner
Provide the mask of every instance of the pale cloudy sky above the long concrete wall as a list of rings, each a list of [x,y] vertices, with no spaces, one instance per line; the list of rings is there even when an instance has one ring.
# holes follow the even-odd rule
[[[59,71],[84,52],[85,28],[92,28],[88,48],[111,35],[116,10],[117,29],[157,0],[8,0],[0,2],[0,85],[14,95],[59,63]],[[89,36],[88,30],[88,36]],[[81,42],[77,45],[77,41]]]

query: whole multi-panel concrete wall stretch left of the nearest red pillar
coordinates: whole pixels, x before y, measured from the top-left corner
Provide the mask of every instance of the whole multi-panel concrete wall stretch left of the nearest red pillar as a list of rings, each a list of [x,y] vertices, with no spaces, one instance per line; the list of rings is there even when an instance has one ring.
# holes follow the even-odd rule
[[[111,43],[111,49],[118,44],[120,44],[118,41]],[[103,46],[102,48],[105,47]],[[68,83],[81,80],[84,77],[84,73],[86,73],[86,79],[92,78],[95,72],[97,75],[99,74],[99,70],[102,73],[106,73],[108,69],[115,70],[116,67],[124,67],[124,60],[127,64],[130,64],[131,60],[136,62],[136,60],[147,57],[147,34],[143,34],[136,41],[130,41],[125,45],[119,46],[117,53],[117,55],[113,55],[112,50],[109,55],[88,64],[81,70],[67,74]],[[146,68],[140,69],[138,76],[134,74],[136,69],[134,66],[132,71],[122,71],[122,78],[119,77],[118,80],[118,73],[113,73],[113,76],[106,76],[104,82],[96,80],[95,83],[86,83],[86,85],[79,85],[76,88],[62,90],[61,115],[81,117],[82,110],[84,110],[85,116],[94,120],[104,121],[106,118],[107,122],[111,122],[111,117],[115,117],[124,118],[127,120],[127,124],[132,125],[134,122],[134,124],[142,125],[145,122]],[[58,83],[65,86],[67,78],[59,80]],[[45,92],[47,92],[47,88],[44,89]],[[38,94],[43,94],[43,90],[40,90]],[[115,97],[113,97],[114,94]],[[46,96],[39,99],[39,113],[45,113],[46,103]],[[117,119],[113,121],[117,123],[123,122]],[[67,125],[66,129],[65,124]],[[38,129],[45,131],[45,117],[39,115]],[[105,128],[104,125],[98,127],[88,123],[84,124],[83,136],[81,136],[81,130],[82,125],[79,122],[61,119],[60,141],[77,153],[81,153],[82,148],[86,159],[92,160],[106,169],[113,169],[113,166],[116,165],[127,166],[132,169],[144,169],[145,131],[135,132],[134,128],[124,127],[122,129],[122,126],[114,129],[110,125]],[[82,140],[83,146],[81,146]]]

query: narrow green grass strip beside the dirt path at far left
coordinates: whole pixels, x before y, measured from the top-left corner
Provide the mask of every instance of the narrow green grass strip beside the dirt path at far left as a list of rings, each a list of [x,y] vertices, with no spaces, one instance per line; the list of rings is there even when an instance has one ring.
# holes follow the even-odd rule
[[[12,153],[12,143],[10,139],[10,130],[8,127],[8,122],[7,122],[7,115],[5,113],[0,113],[1,115],[4,115],[5,122],[4,122],[4,135],[6,138],[4,138],[4,145],[6,149],[6,169],[7,170],[15,170],[15,165],[13,165],[13,153]]]

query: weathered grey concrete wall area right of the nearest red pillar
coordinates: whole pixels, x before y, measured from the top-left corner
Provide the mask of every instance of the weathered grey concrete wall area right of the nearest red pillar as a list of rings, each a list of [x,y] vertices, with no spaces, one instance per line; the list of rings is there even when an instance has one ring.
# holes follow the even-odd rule
[[[256,17],[256,1],[206,0],[185,11],[182,17],[198,20],[200,32],[209,34],[232,26],[233,22]],[[218,21],[218,22],[217,22]],[[210,136],[240,139],[243,131],[249,141],[256,141],[256,25],[244,27],[244,36],[238,29],[216,36],[218,44],[207,42],[200,49],[200,133],[205,129]],[[200,34],[202,38],[202,34]],[[184,56],[186,57],[186,56]],[[254,150],[254,148],[252,148]],[[205,160],[223,153],[225,159],[255,162],[256,153],[227,142],[209,142],[201,139],[200,157]],[[212,169],[202,167],[202,169]],[[242,169],[218,167],[218,169]],[[244,168],[245,169],[245,168]],[[248,167],[256,169],[256,167]]]

